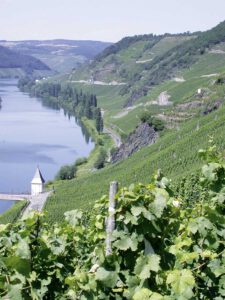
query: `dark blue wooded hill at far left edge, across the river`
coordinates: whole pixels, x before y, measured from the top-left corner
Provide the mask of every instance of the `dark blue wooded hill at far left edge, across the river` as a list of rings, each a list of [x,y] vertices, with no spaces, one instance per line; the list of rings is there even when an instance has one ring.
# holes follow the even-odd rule
[[[0,46],[0,69],[21,69],[26,74],[35,70],[50,70],[50,68],[37,58],[12,51]]]

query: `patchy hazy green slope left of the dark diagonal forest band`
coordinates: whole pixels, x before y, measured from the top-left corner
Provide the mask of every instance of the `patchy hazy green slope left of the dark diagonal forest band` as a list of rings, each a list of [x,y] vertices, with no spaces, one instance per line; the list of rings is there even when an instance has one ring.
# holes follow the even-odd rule
[[[141,79],[146,64],[190,38],[193,37],[189,34],[126,37],[106,48],[90,65],[75,71],[71,78],[131,85]]]

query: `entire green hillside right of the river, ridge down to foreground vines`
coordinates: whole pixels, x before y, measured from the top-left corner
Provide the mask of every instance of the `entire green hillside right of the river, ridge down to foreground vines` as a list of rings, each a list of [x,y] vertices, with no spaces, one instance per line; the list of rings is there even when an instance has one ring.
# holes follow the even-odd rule
[[[224,22],[203,33],[125,38],[91,64],[50,79],[96,94],[105,127],[123,138],[139,124],[143,111],[166,126],[155,144],[130,158],[102,171],[78,172],[75,180],[55,182],[56,192],[46,204],[51,222],[69,209],[91,208],[112,180],[121,185],[146,183],[158,168],[177,181],[191,174],[199,167],[197,150],[210,136],[224,148],[224,41]],[[145,92],[139,93],[143,87]]]

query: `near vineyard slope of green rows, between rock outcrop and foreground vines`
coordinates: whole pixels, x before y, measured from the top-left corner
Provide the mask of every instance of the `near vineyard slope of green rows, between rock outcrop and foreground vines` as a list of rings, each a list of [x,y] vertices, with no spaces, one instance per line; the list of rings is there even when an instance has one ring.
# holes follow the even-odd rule
[[[167,132],[158,142],[146,147],[116,165],[86,177],[59,183],[46,204],[50,222],[62,220],[63,213],[74,208],[91,209],[101,195],[107,194],[112,180],[129,185],[130,182],[148,183],[160,168],[175,180],[190,174],[200,166],[197,151],[207,145],[210,136],[220,149],[225,148],[225,107],[207,116],[195,117],[182,124],[178,131]]]

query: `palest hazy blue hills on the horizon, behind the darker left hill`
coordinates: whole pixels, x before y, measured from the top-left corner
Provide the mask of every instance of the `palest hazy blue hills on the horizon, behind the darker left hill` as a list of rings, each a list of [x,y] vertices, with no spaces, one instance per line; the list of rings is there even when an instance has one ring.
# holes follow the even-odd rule
[[[0,45],[21,54],[32,55],[52,70],[65,73],[93,59],[111,43],[99,41],[44,40],[0,41]]]

